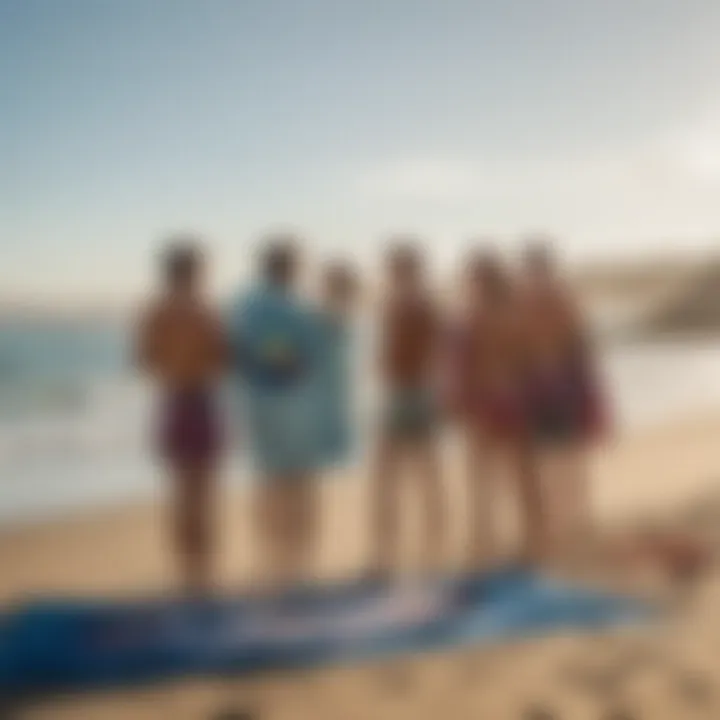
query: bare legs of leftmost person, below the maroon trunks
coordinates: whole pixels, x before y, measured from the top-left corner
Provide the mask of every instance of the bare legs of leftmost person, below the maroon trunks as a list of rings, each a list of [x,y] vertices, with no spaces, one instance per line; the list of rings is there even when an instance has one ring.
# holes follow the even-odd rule
[[[176,470],[173,535],[185,590],[204,594],[212,578],[213,483],[207,466]]]

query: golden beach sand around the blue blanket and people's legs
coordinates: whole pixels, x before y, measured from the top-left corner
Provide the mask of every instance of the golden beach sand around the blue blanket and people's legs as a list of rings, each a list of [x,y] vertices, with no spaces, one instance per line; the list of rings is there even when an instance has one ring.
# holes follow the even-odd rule
[[[594,458],[593,492],[600,522],[605,527],[632,525],[636,518],[654,514],[694,531],[701,520],[711,529],[720,528],[719,439],[720,415],[714,415],[609,444]],[[458,467],[458,459],[449,457],[448,468]],[[456,473],[448,475],[450,513],[457,528],[462,494]],[[323,485],[326,525],[318,567],[322,576],[352,574],[363,561],[367,538],[362,480],[356,473],[330,478]],[[698,500],[705,497],[706,501]],[[686,511],[693,504],[702,512]],[[253,572],[250,496],[243,491],[228,494],[218,507],[219,574],[223,585],[242,586]],[[412,524],[411,517],[409,537]],[[5,529],[0,532],[0,597],[7,603],[35,593],[142,595],[170,590],[173,566],[164,530],[162,507],[150,505]],[[456,549],[460,541],[457,535]],[[612,683],[602,684],[603,673],[617,667],[618,648],[625,652],[641,646],[634,639],[637,631],[556,636],[264,679],[185,681],[56,700],[13,711],[10,717],[195,720],[234,708],[253,713],[237,718],[272,720],[716,720],[719,601],[720,575],[709,575],[693,607],[678,616],[677,639],[659,651],[666,659],[672,652],[677,667],[648,665],[626,672],[625,692],[617,700]],[[718,697],[713,697],[716,688]],[[607,714],[613,708],[619,712],[621,700],[630,714]]]

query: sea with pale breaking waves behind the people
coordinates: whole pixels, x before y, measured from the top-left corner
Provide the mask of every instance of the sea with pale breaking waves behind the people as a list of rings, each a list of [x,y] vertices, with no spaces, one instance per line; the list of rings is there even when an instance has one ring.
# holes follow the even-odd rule
[[[121,323],[0,327],[0,524],[162,492],[154,399]],[[720,407],[720,342],[607,345],[603,373],[621,429]],[[373,392],[363,413],[372,412]],[[243,483],[242,433],[225,473]]]

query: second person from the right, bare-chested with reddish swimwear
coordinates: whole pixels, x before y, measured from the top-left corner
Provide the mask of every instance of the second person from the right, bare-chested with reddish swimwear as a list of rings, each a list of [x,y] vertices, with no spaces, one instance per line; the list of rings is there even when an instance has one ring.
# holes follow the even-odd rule
[[[519,500],[520,559],[535,559],[540,499],[524,451],[525,347],[517,291],[500,259],[474,251],[466,263],[467,306],[451,355],[449,404],[465,435],[467,561],[474,570],[498,561],[497,494],[502,483]]]

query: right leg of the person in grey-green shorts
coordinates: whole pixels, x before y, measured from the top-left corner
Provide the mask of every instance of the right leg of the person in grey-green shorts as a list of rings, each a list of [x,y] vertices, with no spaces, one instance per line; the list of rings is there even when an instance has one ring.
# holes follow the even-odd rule
[[[417,481],[422,493],[423,564],[431,572],[442,567],[445,560],[446,542],[446,496],[440,472],[439,448],[434,437],[417,443],[411,449],[417,460]]]

